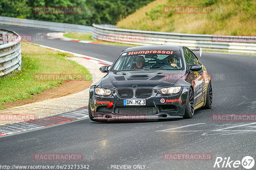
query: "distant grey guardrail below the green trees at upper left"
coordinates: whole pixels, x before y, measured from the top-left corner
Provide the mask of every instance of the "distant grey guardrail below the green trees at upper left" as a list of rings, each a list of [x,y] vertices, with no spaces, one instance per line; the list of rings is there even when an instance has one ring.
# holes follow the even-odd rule
[[[60,32],[84,32],[84,33],[92,32],[92,26],[38,21],[38,20],[22,19],[22,18],[1,17],[1,16],[0,16],[0,24],[18,25],[18,26],[33,27],[33,28],[44,28],[44,29],[60,31]]]

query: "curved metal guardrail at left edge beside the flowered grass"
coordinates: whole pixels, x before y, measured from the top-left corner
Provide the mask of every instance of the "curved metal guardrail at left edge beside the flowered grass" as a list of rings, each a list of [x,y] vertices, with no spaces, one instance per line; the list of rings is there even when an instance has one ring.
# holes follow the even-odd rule
[[[10,30],[0,28],[0,76],[20,70],[21,37]]]

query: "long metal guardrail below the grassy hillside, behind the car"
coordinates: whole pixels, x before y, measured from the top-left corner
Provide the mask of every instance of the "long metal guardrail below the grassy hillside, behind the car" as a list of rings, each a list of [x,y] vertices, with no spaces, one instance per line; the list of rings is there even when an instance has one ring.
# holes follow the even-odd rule
[[[96,24],[92,24],[92,26],[92,39],[94,40],[103,39],[106,41],[121,42],[134,45],[163,44],[187,46],[189,48],[202,47],[204,50],[209,51],[256,53],[256,43],[212,41],[214,36],[222,37],[222,35],[184,34],[171,32],[128,30],[115,28],[114,26],[109,27],[108,25]],[[143,40],[136,41],[132,38],[129,40],[129,35],[141,36],[143,37]],[[232,37],[233,36],[226,36],[226,38]]]

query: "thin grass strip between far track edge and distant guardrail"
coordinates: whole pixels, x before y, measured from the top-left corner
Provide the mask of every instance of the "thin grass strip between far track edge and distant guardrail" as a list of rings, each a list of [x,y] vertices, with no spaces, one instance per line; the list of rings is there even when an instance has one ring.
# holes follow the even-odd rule
[[[64,34],[63,36],[72,38],[72,39],[92,41],[92,42],[101,43],[105,45],[112,45],[112,46],[131,46],[131,47],[136,46],[131,44],[117,43],[117,42],[95,41],[94,39],[92,39],[92,33],[67,33],[67,34]]]

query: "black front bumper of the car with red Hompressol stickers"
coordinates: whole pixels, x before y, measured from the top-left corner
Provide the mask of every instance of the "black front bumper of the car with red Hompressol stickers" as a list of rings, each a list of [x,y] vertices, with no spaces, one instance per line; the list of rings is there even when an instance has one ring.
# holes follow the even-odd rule
[[[112,91],[112,90],[111,90]],[[92,116],[95,120],[106,121],[106,120],[134,120],[143,121],[149,119],[164,119],[164,118],[181,118],[184,115],[188,87],[182,87],[180,93],[175,95],[161,95],[154,90],[153,94],[146,99],[146,105],[135,105],[135,106],[125,106],[124,99],[113,93],[110,96],[98,96],[95,95],[94,89],[90,89],[90,105],[92,110]],[[112,91],[113,92],[113,91]],[[141,99],[141,98],[130,98],[130,99]],[[161,100],[162,99],[162,100]],[[163,102],[164,99],[164,102]],[[167,102],[168,101],[168,102]],[[171,101],[171,102],[170,102]],[[108,104],[113,102],[111,108],[107,108]],[[99,111],[100,107],[104,107]],[[145,107],[153,108],[152,112],[147,112],[144,110]],[[117,113],[116,109],[119,109]],[[138,112],[134,113],[134,108]],[[131,109],[131,113],[129,113]],[[102,111],[103,110],[103,111]],[[104,112],[104,110],[107,110]],[[120,111],[121,110],[121,111]],[[122,110],[124,113],[122,113]],[[128,110],[128,111],[127,111]],[[133,111],[132,111],[133,110]],[[144,111],[143,111],[144,110]]]

